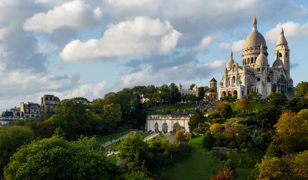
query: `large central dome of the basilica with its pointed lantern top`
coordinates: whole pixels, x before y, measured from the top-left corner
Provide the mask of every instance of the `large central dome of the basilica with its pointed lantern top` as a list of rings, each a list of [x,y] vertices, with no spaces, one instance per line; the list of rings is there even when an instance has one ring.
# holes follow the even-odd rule
[[[253,29],[251,33],[247,36],[245,42],[244,42],[244,48],[248,47],[260,47],[261,44],[263,46],[266,46],[266,42],[264,37],[262,36],[261,33],[258,32],[257,30],[257,18],[253,18]]]

